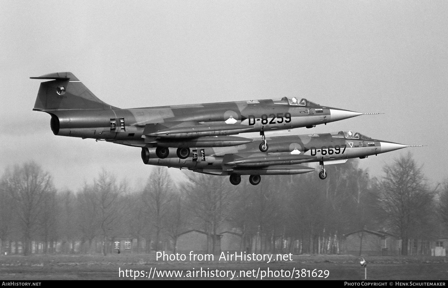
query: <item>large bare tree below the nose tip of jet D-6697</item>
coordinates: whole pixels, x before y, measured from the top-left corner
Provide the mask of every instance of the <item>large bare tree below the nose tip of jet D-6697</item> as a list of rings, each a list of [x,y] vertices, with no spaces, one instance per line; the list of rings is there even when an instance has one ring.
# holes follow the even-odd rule
[[[430,221],[434,193],[410,153],[385,166],[383,171],[385,176],[376,183],[383,217],[401,236],[401,254],[407,255],[408,240]]]

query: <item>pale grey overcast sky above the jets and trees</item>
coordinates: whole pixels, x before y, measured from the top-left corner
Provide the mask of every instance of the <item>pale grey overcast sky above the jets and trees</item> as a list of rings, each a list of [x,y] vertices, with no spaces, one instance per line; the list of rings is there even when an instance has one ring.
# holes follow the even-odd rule
[[[102,168],[146,181],[140,148],[55,136],[50,115],[32,111],[40,81],[29,77],[70,71],[121,108],[296,96],[382,112],[293,132],[428,145],[359,163],[381,176],[411,151],[438,183],[448,177],[447,15],[448,2],[435,0],[2,0],[0,175],[34,159],[59,189]]]

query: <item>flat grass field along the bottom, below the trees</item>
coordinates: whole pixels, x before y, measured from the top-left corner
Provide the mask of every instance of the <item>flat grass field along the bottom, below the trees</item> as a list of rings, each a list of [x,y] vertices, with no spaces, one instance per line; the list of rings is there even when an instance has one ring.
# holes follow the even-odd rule
[[[359,258],[350,255],[293,255],[290,261],[270,263],[218,261],[217,258],[214,261],[156,261],[155,254],[0,256],[0,280],[134,279],[124,277],[125,272],[119,277],[119,270],[128,270],[128,276],[131,275],[129,270],[139,271],[136,279],[140,280],[152,279],[152,275],[154,279],[260,279],[263,275],[263,279],[364,279],[364,268],[359,264]],[[366,260],[369,262],[367,279],[370,280],[448,280],[448,257],[379,256],[366,257]],[[313,277],[314,269],[323,277]],[[224,277],[216,277],[211,274],[216,270],[221,275],[224,275],[221,271],[233,271],[235,274],[232,277],[232,272],[227,272]],[[327,270],[328,277],[324,278],[325,273],[319,270]],[[157,274],[166,271],[182,271],[182,275]],[[188,273],[190,276],[198,274],[188,277]],[[134,274],[137,273],[132,276]]]

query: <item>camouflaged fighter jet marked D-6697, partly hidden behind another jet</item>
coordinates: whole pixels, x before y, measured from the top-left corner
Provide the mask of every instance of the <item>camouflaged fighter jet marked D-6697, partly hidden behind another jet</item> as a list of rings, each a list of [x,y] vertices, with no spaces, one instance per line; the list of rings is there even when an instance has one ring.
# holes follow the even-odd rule
[[[176,168],[188,168],[194,172],[229,175],[230,183],[238,185],[241,175],[250,175],[249,182],[257,185],[260,175],[289,175],[314,171],[299,164],[319,162],[320,179],[327,178],[324,165],[345,163],[350,158],[366,158],[393,150],[410,147],[394,142],[372,139],[352,131],[338,133],[279,136],[268,138],[269,153],[260,152],[255,140],[241,146],[225,148],[198,148],[192,157],[179,159],[175,156],[159,159],[154,148],[142,148],[145,164]]]

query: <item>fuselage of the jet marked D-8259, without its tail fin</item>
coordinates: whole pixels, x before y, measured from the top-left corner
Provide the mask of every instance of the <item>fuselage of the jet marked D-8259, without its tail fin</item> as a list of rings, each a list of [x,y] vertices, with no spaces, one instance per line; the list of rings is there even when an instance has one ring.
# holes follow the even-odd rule
[[[117,142],[148,147],[151,145],[145,145],[142,138],[147,123],[161,125],[183,123],[180,125],[181,128],[188,123],[192,123],[191,126],[194,126],[193,123],[196,125],[200,123],[202,125],[222,125],[223,127],[219,131],[197,133],[183,131],[183,133],[155,135],[159,138],[195,138],[325,124],[340,120],[334,114],[344,113],[345,110],[322,106],[294,107],[288,104],[274,103],[273,100],[259,100],[202,105],[131,109],[70,109],[46,112],[52,115],[52,130],[55,135],[105,139],[112,140],[112,142],[121,140]],[[226,123],[229,119],[233,119],[233,123]],[[244,125],[244,127],[238,125]],[[240,129],[234,129],[233,126]]]

